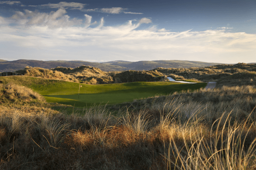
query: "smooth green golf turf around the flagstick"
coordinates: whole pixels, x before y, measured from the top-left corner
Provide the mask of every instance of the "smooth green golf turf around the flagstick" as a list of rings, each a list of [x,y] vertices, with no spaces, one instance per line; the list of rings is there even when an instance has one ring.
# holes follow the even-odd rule
[[[78,98],[79,83],[62,80],[50,80],[30,76],[0,77],[5,84],[27,86],[43,95],[47,102],[67,104],[76,107],[91,106],[92,104],[118,104],[134,99],[148,98],[155,95],[167,95],[175,91],[196,90],[204,88],[206,83],[177,83],[177,82],[130,82],[120,84],[81,84]]]

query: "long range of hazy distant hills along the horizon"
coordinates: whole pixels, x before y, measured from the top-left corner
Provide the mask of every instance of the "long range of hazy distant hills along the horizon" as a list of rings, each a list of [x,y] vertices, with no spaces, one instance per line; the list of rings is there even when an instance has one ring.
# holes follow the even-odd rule
[[[102,71],[126,71],[126,70],[152,70],[154,68],[190,68],[206,67],[223,63],[206,63],[200,61],[160,60],[160,61],[109,61],[104,63],[92,63],[87,61],[38,61],[38,60],[16,60],[0,62],[0,72],[15,72],[26,66],[40,68],[70,67],[76,68],[82,65],[100,68]]]

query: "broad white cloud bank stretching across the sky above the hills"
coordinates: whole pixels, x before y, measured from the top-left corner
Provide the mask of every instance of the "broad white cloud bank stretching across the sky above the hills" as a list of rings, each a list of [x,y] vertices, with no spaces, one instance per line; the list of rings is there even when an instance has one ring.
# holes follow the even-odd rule
[[[23,56],[40,54],[41,58],[49,56],[51,60],[72,57],[77,60],[139,61],[154,60],[156,56],[170,60],[177,56],[180,60],[219,63],[238,63],[241,55],[246,55],[250,62],[256,62],[255,34],[230,33],[228,29],[170,32],[165,28],[157,29],[155,25],[136,30],[141,23],[151,23],[148,18],[130,20],[120,26],[104,26],[104,18],[101,18],[98,27],[89,27],[97,21],[91,23],[92,17],[84,16],[85,21],[71,20],[66,10],[59,9],[50,13],[25,10],[24,13],[16,12],[12,18],[0,17],[0,23],[16,24],[0,24],[0,53],[17,56],[22,49],[28,49]],[[77,26],[79,24],[81,26]],[[13,51],[4,52],[8,48]]]

